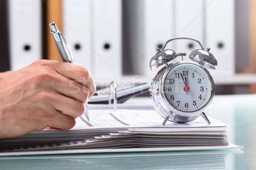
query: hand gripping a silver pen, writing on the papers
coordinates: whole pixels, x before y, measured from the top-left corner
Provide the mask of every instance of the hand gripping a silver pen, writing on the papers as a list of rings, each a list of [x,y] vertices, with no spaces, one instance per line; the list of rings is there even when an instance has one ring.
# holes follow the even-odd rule
[[[0,139],[46,127],[68,130],[96,91],[86,68],[39,60],[0,80]]]

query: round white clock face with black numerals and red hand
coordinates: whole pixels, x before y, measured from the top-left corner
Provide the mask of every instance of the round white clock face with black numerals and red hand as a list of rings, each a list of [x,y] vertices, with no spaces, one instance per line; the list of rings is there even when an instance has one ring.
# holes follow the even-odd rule
[[[198,65],[184,63],[175,66],[167,74],[163,85],[167,101],[179,111],[201,110],[211,99],[209,75]]]

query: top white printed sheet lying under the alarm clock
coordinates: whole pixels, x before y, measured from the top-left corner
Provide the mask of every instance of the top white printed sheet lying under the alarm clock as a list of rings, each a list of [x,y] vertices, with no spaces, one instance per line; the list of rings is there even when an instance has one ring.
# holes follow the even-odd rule
[[[208,125],[202,117],[198,117],[192,122],[188,123],[174,123],[167,122],[165,126],[161,123],[163,122],[163,117],[160,116],[155,110],[128,110],[128,109],[118,109],[113,111],[112,109],[98,109],[89,110],[91,121],[88,122],[83,117],[76,119],[76,125],[71,130],[84,130],[84,129],[104,129],[104,128],[129,128],[129,130],[136,131],[136,127],[144,127],[142,130],[147,131],[167,131],[176,130],[175,128],[183,128],[184,130],[192,130],[189,128],[200,128],[200,130],[209,130],[209,127],[214,127],[217,130],[218,127],[228,127],[223,122],[216,119],[210,118],[211,124]],[[145,129],[147,127],[147,129]],[[148,127],[153,127],[149,129]],[[159,127],[160,129],[157,129]],[[172,129],[170,128],[172,127]],[[222,128],[223,129],[223,128]],[[227,130],[226,128],[225,130]],[[45,129],[55,130],[55,129]]]

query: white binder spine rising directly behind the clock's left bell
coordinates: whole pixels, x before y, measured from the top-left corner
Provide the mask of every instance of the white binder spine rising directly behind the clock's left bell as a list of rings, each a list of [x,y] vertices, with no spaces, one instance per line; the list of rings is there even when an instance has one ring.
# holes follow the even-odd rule
[[[174,32],[174,12],[173,7],[175,0],[144,0],[144,30],[145,30],[145,49],[143,65],[144,75],[148,80],[151,80],[156,71],[150,71],[148,63],[154,54],[155,49],[162,48],[164,42],[173,36]],[[168,45],[168,48],[173,47],[173,43]],[[140,56],[141,57],[141,56]]]

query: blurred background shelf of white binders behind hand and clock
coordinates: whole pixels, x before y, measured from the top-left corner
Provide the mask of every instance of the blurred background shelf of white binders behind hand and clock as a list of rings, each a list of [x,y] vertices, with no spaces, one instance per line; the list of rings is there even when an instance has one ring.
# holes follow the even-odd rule
[[[89,68],[98,86],[151,82],[155,48],[191,37],[218,59],[211,71],[216,94],[254,94],[255,8],[255,0],[1,0],[0,72],[60,60],[49,32],[53,21],[75,64]],[[180,40],[167,48],[188,55],[199,46]]]

